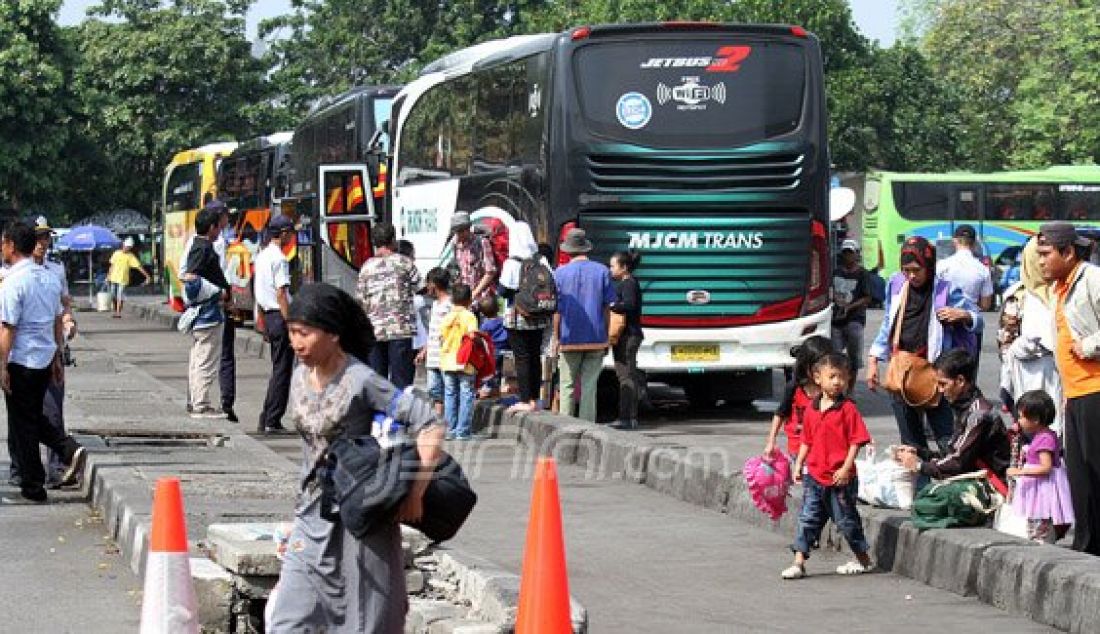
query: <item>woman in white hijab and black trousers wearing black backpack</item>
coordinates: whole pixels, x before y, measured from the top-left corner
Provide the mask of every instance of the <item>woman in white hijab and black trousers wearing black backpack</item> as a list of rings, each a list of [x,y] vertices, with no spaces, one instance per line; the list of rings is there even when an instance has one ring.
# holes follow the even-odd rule
[[[508,259],[501,271],[502,295],[507,300],[504,327],[508,330],[508,346],[516,361],[516,383],[519,402],[512,411],[530,412],[538,408],[539,387],[542,381],[542,338],[550,327],[549,317],[529,317],[516,309],[516,291],[522,274],[524,261],[538,256],[539,244],[527,222],[516,222],[508,230]],[[539,263],[550,269],[544,259]]]

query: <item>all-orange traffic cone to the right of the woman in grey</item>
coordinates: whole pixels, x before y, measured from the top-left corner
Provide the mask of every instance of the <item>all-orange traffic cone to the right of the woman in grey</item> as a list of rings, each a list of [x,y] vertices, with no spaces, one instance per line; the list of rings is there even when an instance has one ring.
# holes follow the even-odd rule
[[[553,458],[539,458],[519,582],[516,634],[568,634],[572,631],[558,469]]]

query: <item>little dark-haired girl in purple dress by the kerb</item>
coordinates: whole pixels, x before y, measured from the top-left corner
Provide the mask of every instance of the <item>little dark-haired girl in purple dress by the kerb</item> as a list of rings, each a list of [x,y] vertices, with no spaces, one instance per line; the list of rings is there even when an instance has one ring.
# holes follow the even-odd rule
[[[1062,444],[1050,430],[1054,401],[1040,390],[1025,392],[1016,401],[1020,429],[1030,438],[1024,446],[1023,467],[1008,470],[1016,479],[1012,506],[1027,517],[1027,538],[1054,544],[1074,523],[1069,480],[1062,463]]]

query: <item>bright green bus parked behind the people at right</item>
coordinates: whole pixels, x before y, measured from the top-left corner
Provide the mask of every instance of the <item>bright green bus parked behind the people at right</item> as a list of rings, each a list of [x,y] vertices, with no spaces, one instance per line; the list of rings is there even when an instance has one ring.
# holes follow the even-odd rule
[[[978,231],[983,255],[1026,242],[1049,220],[1100,226],[1100,165],[977,174],[868,174],[864,190],[864,264],[898,271],[909,236],[950,239],[957,225]]]

